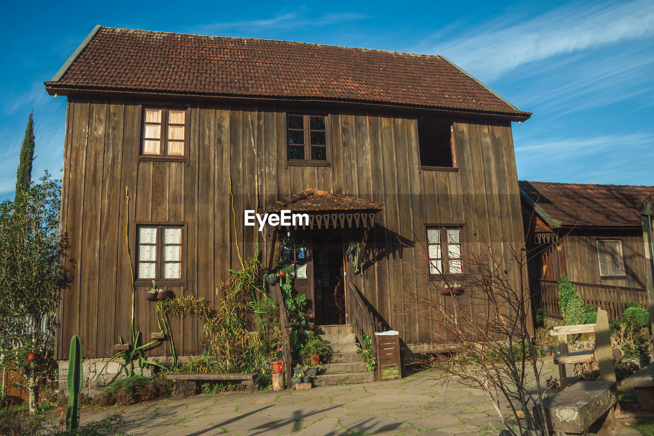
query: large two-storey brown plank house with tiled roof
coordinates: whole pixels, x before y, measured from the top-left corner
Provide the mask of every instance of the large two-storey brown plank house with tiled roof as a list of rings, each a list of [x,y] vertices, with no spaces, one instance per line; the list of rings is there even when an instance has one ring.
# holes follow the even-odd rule
[[[97,26],[45,86],[68,99],[61,225],[74,280],[58,359],[75,334],[84,356],[114,354],[132,282],[145,338],[159,331],[141,297],[152,280],[214,304],[256,244],[269,263],[275,230],[302,241],[286,254],[319,325],[358,335],[373,317],[368,328],[425,349],[438,337],[409,294],[434,292],[436,268],[456,278],[482,241],[499,247],[492,229],[524,241],[511,122],[530,113],[441,56]],[[284,209],[309,225],[244,225],[247,210]],[[361,274],[350,240],[365,245]],[[179,354],[201,354],[197,319],[173,331]]]

